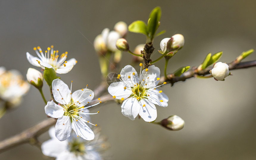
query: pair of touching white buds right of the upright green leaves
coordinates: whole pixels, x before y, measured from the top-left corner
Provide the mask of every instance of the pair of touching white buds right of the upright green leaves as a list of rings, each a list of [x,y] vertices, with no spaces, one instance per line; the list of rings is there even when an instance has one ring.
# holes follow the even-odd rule
[[[182,34],[174,34],[171,38],[164,38],[160,42],[160,48],[163,53],[179,50],[184,46],[184,37]]]

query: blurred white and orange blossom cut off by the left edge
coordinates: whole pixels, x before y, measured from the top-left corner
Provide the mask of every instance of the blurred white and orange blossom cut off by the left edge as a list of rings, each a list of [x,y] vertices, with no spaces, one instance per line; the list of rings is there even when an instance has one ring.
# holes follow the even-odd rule
[[[17,106],[21,97],[29,90],[29,84],[23,80],[18,70],[6,71],[0,67],[0,99]]]

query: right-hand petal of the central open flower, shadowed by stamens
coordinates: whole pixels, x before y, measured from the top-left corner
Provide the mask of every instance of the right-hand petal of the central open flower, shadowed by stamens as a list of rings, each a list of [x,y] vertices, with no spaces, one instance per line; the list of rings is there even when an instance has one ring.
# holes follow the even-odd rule
[[[159,93],[158,89],[153,89],[147,92],[149,95],[147,98],[149,101],[151,101],[154,104],[157,104],[158,106],[167,107],[168,106],[168,97],[163,92]],[[160,102],[160,100],[163,100],[163,102]]]

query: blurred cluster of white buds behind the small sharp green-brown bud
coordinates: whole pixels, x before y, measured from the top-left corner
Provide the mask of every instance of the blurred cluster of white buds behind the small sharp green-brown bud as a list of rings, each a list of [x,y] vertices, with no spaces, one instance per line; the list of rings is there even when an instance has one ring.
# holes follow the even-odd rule
[[[103,29],[102,33],[99,34],[94,39],[94,49],[99,55],[105,55],[107,51],[115,52],[117,51],[116,48],[116,41],[119,38],[124,38],[127,34],[128,28],[125,22],[118,22],[114,26],[114,30],[110,31],[110,29],[105,28]]]

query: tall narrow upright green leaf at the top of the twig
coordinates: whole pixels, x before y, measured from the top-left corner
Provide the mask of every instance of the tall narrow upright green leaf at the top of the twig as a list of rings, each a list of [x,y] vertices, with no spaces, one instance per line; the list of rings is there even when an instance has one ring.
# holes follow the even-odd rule
[[[159,21],[161,18],[161,8],[155,7],[150,15],[149,15],[149,21],[148,21],[148,37],[150,37],[151,40],[154,38],[154,34],[159,27]]]

